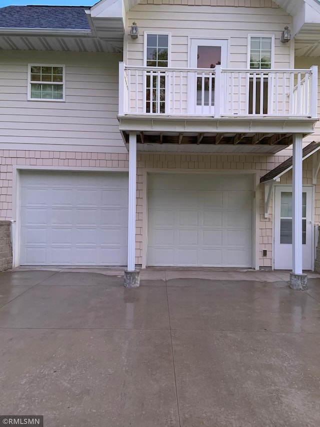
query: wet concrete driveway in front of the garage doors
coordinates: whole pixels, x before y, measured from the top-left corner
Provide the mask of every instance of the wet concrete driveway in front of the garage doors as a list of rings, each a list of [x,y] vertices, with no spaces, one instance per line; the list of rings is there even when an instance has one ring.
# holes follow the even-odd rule
[[[1,413],[45,427],[318,427],[320,276],[0,273]]]

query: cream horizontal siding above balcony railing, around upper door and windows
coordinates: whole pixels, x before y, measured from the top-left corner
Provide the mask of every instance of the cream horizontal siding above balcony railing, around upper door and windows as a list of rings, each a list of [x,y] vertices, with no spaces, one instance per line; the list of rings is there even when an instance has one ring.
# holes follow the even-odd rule
[[[282,9],[273,7],[267,0],[248,0],[243,4],[246,7],[232,7],[232,2],[240,6],[240,0],[215,1],[215,5],[219,6],[211,3],[214,7],[187,6],[190,5],[188,0],[185,2],[186,5],[168,5],[159,4],[161,0],[154,0],[157,4],[150,4],[147,0],[147,3],[142,2],[128,12],[128,23],[135,21],[140,34],[136,40],[130,37],[124,39],[127,40],[124,61],[128,65],[143,65],[143,32],[159,31],[171,33],[171,67],[188,66],[188,38],[194,37],[228,38],[228,66],[246,68],[248,34],[266,34],[275,38],[275,68],[290,68],[291,44],[281,43],[280,37],[284,26],[291,26],[291,17]]]

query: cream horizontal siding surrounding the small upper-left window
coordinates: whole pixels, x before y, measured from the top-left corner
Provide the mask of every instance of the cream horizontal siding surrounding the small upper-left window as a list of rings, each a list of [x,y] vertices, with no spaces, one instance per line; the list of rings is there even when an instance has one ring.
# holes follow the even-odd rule
[[[118,130],[117,54],[1,53],[0,144],[110,147],[125,152]],[[65,102],[27,101],[27,64],[65,64]],[[45,149],[43,146],[42,149]]]

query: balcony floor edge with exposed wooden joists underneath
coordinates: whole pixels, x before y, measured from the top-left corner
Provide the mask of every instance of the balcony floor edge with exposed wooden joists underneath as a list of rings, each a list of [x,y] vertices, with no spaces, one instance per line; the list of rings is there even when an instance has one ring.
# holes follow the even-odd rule
[[[128,144],[136,132],[141,151],[276,153],[292,144],[292,136],[313,131],[314,119],[297,118],[171,118],[119,116]]]

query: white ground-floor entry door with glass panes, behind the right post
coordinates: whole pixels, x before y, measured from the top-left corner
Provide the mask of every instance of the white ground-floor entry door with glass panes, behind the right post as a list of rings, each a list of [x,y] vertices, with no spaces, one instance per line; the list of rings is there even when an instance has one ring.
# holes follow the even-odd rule
[[[292,188],[275,187],[274,269],[292,268]],[[312,269],[312,188],[302,188],[302,268]]]

